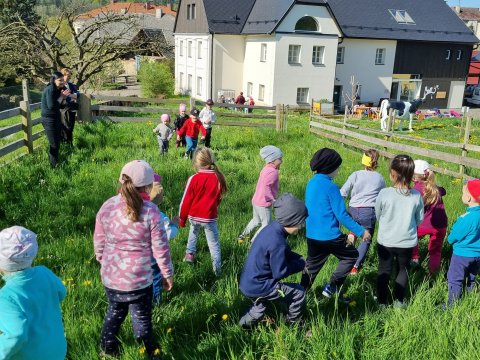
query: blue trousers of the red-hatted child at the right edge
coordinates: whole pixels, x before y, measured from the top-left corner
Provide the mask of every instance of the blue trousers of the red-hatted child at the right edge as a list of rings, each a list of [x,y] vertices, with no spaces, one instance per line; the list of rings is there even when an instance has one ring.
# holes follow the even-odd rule
[[[448,304],[462,295],[462,287],[466,280],[468,291],[475,285],[475,276],[480,274],[480,257],[466,257],[452,254],[448,268]]]

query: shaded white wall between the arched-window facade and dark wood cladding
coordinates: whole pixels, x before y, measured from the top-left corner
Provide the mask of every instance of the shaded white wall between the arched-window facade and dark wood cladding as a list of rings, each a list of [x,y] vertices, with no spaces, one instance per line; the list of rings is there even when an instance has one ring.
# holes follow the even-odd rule
[[[354,75],[361,85],[359,101],[377,105],[380,98],[390,95],[396,45],[394,40],[345,39],[338,45],[345,48],[345,53],[344,63],[337,64],[335,85],[342,85],[343,91],[350,93],[350,77]],[[384,65],[375,65],[379,48],[386,49]],[[345,104],[343,98],[341,104]]]

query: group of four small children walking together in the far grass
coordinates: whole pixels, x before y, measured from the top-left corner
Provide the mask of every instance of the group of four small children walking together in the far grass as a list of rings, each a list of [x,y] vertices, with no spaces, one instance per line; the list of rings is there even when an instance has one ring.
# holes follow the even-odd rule
[[[217,121],[217,116],[212,110],[213,101],[208,99],[205,107],[199,112],[196,108],[190,111],[190,117],[186,115],[187,107],[185,104],[180,104],[179,115],[175,119],[172,129],[170,126],[170,115],[162,114],[160,117],[160,124],[154,129],[153,133],[157,135],[158,147],[160,155],[168,152],[169,142],[176,133],[176,146],[185,146],[186,159],[192,159],[193,153],[198,145],[198,135],[201,133],[201,140],[204,145],[209,148],[212,138],[212,125]]]

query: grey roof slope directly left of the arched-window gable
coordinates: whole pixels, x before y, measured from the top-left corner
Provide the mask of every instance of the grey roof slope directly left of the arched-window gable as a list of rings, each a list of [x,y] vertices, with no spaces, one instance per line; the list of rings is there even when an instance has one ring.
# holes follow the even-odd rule
[[[295,0],[257,0],[243,27],[243,34],[270,34]]]

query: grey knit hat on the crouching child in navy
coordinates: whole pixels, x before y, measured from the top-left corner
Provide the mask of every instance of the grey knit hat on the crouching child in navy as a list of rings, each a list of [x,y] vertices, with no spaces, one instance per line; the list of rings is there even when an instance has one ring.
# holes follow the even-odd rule
[[[282,226],[296,226],[305,221],[308,215],[305,203],[291,193],[283,193],[273,203],[275,218]]]

